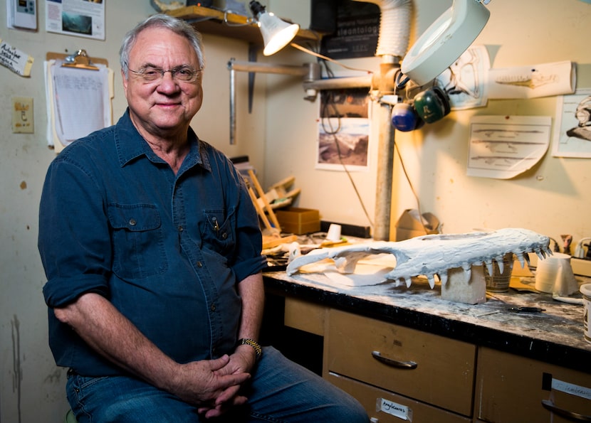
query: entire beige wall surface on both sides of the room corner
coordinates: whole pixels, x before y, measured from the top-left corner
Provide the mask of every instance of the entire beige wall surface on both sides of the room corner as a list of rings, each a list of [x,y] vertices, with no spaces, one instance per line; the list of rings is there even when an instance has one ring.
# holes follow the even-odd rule
[[[417,21],[423,31],[451,0],[417,0]],[[307,28],[308,2],[271,0],[269,9]],[[298,7],[295,7],[298,4]],[[496,68],[572,60],[579,63],[579,86],[591,87],[591,53],[585,30],[591,5],[579,0],[493,0],[491,19],[476,43],[486,45]],[[113,117],[125,110],[117,53],[124,33],[154,13],[148,0],[106,2],[106,39],[88,40],[45,31],[45,1],[38,0],[36,32],[6,27],[6,8],[0,7],[0,38],[33,56],[31,77],[0,67],[0,422],[59,422],[67,405],[63,392],[66,373],[56,368],[47,346],[46,307],[41,289],[45,276],[38,258],[38,201],[47,166],[55,152],[46,142],[46,100],[43,61],[48,51],[64,53],[85,48],[108,59],[115,71]],[[416,37],[412,34],[412,37]],[[228,156],[248,155],[263,186],[295,176],[302,188],[296,205],[317,208],[325,220],[368,225],[345,173],[315,168],[318,100],[303,100],[298,77],[258,73],[251,113],[247,109],[246,73],[236,75],[237,139],[229,144],[230,58],[247,60],[245,41],[204,36],[206,72],[204,105],[193,127],[206,141]],[[288,48],[269,63],[315,61]],[[379,60],[345,60],[358,68],[377,71]],[[333,65],[338,71],[338,66]],[[34,134],[12,134],[11,98],[32,97]],[[434,213],[446,233],[474,227],[527,227],[560,239],[572,234],[575,242],[591,236],[587,215],[591,208],[589,159],[559,159],[546,154],[530,171],[501,181],[466,176],[468,124],[475,114],[540,115],[555,117],[555,97],[537,100],[491,100],[488,107],[452,112],[449,117],[412,133],[397,133],[396,141],[422,210]],[[375,107],[373,107],[375,109]],[[370,166],[354,172],[370,218],[375,213],[377,142],[380,122],[372,121]],[[417,204],[394,161],[392,223],[402,210]]]

